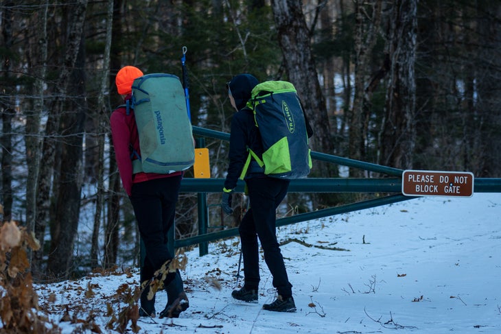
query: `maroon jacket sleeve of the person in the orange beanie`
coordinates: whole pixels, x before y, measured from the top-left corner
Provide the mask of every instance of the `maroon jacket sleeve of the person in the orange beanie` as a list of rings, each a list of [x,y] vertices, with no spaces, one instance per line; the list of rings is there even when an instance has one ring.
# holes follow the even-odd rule
[[[130,196],[132,193],[132,160],[130,160],[130,129],[126,117],[128,116],[124,113],[115,110],[110,117],[110,126],[121,183],[127,195]]]

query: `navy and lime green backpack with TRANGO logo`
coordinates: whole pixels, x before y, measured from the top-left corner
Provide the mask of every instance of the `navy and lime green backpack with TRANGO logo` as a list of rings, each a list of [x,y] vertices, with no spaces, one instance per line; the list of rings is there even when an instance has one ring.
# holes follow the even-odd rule
[[[244,178],[251,157],[264,167],[264,174],[275,178],[305,178],[312,158],[303,108],[296,88],[286,81],[261,82],[253,88],[248,108],[263,143],[263,156],[249,150],[240,178]]]

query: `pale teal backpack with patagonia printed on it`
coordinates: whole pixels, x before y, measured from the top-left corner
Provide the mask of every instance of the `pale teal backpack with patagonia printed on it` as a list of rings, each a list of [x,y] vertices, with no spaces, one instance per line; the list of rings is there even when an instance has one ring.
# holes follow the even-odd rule
[[[153,73],[132,83],[132,106],[141,156],[132,152],[132,171],[170,174],[195,162],[191,121],[179,78]],[[127,110],[127,113],[129,110]]]

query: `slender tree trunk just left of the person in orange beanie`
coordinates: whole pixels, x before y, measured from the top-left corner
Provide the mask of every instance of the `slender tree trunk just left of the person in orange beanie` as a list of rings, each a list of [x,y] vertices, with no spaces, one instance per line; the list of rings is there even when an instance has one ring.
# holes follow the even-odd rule
[[[98,147],[99,147],[99,158],[98,158],[98,174],[97,174],[97,198],[96,207],[94,215],[94,226],[92,232],[92,246],[91,246],[91,265],[97,266],[98,264],[98,252],[99,252],[99,236],[100,236],[100,226],[102,219],[102,209],[104,206],[104,139],[106,136],[106,124],[108,124],[108,105],[104,101],[104,95],[109,91],[110,88],[110,50],[111,50],[111,36],[113,33],[113,0],[108,0],[108,14],[106,15],[106,45],[104,47],[104,61],[103,61],[103,71],[101,77],[101,89],[97,96],[97,106],[100,109],[97,119],[99,119],[98,130]]]

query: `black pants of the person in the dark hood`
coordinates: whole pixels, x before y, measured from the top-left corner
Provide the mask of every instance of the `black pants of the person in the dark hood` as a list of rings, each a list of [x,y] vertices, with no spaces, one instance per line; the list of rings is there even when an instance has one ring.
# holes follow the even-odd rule
[[[276,210],[289,187],[288,180],[279,178],[250,178],[246,180],[250,209],[240,223],[240,239],[244,257],[246,289],[259,285],[259,249],[257,237],[264,250],[264,261],[273,276],[273,287],[283,297],[292,296],[286,265],[280,252],[275,228]]]

